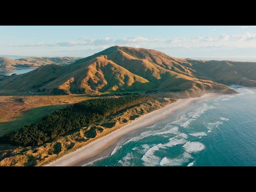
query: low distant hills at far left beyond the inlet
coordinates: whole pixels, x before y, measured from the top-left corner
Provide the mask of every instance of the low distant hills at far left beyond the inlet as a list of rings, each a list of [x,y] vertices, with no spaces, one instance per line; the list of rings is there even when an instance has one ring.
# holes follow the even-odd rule
[[[60,64],[60,65],[67,65],[70,63],[75,62],[80,58],[75,57],[30,57],[30,58],[19,58],[13,60],[11,58],[4,58],[0,57],[0,68],[9,70],[15,68],[28,68],[28,67],[39,67],[42,65],[49,65],[49,64]]]

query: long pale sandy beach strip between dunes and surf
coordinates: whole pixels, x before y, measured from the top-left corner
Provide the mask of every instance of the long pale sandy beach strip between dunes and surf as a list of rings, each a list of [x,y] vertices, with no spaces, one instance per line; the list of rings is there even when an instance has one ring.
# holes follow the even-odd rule
[[[123,126],[122,128],[115,130],[110,134],[107,134],[106,136],[98,138],[97,140],[89,143],[88,145],[74,152],[66,154],[65,156],[57,159],[50,164],[47,164],[46,166],[76,166],[80,162],[83,162],[86,159],[92,158],[100,154],[109,146],[114,144],[118,140],[118,138],[124,136],[125,134],[128,134],[138,128],[143,128],[155,124],[159,120],[167,118],[176,110],[180,110],[182,108],[185,108],[186,106],[189,106],[194,101],[208,98],[214,95],[216,94],[205,94],[204,96],[197,98],[179,99],[177,102],[169,104],[159,110],[148,113],[141,118],[134,120],[130,124],[127,124],[126,126]]]

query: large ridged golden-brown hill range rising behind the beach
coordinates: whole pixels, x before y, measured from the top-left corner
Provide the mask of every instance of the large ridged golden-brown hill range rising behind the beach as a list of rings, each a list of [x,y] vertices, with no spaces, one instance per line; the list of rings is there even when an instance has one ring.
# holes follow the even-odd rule
[[[23,58],[18,62],[43,65],[42,60]],[[234,91],[226,86],[229,84],[256,86],[255,62],[179,59],[144,48],[113,46],[86,58],[73,58],[76,61],[66,66],[54,64],[57,58],[45,60],[49,61],[46,66],[31,72],[0,78],[0,93],[98,94],[157,90],[197,96],[202,92],[232,93]],[[67,58],[66,62],[71,60]],[[10,66],[17,65],[14,61]]]

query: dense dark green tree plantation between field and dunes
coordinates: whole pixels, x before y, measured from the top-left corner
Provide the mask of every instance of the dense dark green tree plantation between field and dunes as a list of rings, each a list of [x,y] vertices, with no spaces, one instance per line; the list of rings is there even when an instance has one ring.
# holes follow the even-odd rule
[[[22,127],[0,138],[17,146],[37,146],[71,130],[88,126],[108,115],[152,99],[147,95],[130,95],[120,98],[98,98],[76,103],[56,110],[38,123]]]

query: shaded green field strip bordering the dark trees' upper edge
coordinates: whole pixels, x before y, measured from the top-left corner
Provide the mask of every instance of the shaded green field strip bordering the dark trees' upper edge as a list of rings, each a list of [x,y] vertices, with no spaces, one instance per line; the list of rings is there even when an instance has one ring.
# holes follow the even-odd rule
[[[27,124],[32,124],[38,121],[40,118],[54,112],[54,110],[64,108],[67,105],[52,105],[52,106],[43,106],[38,108],[30,109],[16,120],[9,121],[9,122],[0,122],[0,136],[5,135],[10,131],[16,131],[22,128]]]

